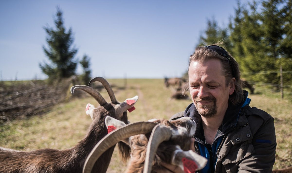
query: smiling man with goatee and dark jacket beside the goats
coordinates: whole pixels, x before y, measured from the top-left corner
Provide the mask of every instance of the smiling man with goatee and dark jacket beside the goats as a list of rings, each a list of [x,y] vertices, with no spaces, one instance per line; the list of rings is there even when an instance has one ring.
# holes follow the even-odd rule
[[[188,116],[196,121],[190,149],[208,159],[199,172],[272,172],[274,119],[249,106],[235,59],[220,44],[198,47],[190,56],[188,73],[193,103],[171,120]],[[183,172],[173,165],[164,166],[165,172]]]

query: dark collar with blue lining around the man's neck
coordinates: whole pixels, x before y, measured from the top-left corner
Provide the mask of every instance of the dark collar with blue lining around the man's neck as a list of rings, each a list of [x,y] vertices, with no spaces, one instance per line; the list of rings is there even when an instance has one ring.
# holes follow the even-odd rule
[[[235,127],[237,124],[237,120],[239,117],[239,113],[242,107],[249,105],[251,99],[247,98],[248,91],[244,90],[244,97],[246,98],[245,101],[238,105],[228,105],[228,108],[226,110],[225,116],[223,118],[222,125],[219,127],[218,132],[216,134],[216,137],[222,136],[223,134],[227,134],[232,127]],[[185,117],[191,117],[197,124],[196,134],[195,138],[199,138],[201,140],[205,139],[203,128],[201,128],[201,116],[197,112],[197,109],[194,105],[194,103],[190,104],[186,110],[185,110]]]

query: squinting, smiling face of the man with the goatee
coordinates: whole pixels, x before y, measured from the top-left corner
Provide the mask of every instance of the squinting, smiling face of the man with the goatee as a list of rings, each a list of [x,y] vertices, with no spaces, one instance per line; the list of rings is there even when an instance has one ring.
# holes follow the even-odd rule
[[[192,101],[201,116],[208,118],[225,114],[229,95],[234,92],[235,79],[226,86],[220,60],[192,61],[189,80]]]

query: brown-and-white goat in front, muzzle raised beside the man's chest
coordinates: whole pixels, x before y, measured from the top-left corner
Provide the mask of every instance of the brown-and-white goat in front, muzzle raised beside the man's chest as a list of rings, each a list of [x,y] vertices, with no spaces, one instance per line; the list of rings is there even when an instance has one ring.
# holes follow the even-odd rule
[[[126,171],[128,173],[155,172],[163,168],[161,162],[194,172],[196,169],[202,169],[207,163],[206,158],[188,150],[190,138],[194,136],[196,130],[196,123],[190,117],[172,122],[161,119],[127,125],[107,117],[105,124],[108,128],[114,126],[118,129],[107,134],[96,144],[86,159],[84,173],[91,172],[99,156],[118,141],[123,141],[131,147],[131,160]]]

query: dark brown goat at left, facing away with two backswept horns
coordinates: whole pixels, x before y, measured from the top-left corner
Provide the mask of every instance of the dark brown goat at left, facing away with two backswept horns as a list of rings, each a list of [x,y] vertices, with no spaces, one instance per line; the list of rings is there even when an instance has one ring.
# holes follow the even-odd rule
[[[107,103],[100,93],[89,86],[76,85],[71,88],[72,94],[74,94],[75,90],[81,89],[93,96],[100,104],[100,107],[96,109],[91,104],[86,106],[86,113],[91,115],[93,122],[83,140],[67,150],[40,149],[25,152],[0,148],[0,172],[81,172],[88,154],[95,144],[107,134],[105,117],[111,116],[124,123],[128,123],[127,110],[133,109],[133,105],[138,100],[138,96],[135,96],[119,103],[114,96],[111,86],[104,78],[96,77],[89,84],[95,81],[102,83],[112,103]],[[130,104],[128,104],[128,101],[130,101]],[[93,166],[94,171],[106,172],[113,150],[114,146],[101,155]]]

